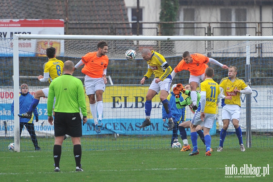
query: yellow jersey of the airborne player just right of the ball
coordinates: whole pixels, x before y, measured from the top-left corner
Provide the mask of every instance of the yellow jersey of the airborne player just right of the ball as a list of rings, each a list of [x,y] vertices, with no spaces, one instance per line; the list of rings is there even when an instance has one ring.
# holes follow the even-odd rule
[[[163,67],[165,64],[167,64],[165,58],[155,51],[151,52],[152,52],[151,60],[147,61],[148,71],[144,76],[150,78],[150,76],[153,73],[155,78],[160,78],[162,81],[165,78],[172,79],[170,73],[172,72],[173,69],[170,66],[168,66],[167,68]]]

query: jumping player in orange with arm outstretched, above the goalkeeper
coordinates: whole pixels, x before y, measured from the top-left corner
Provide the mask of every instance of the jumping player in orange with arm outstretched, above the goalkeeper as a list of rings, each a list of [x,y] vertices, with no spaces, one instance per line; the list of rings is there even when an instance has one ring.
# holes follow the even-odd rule
[[[183,59],[178,63],[178,65],[174,68],[174,71],[171,73],[172,79],[176,73],[182,70],[190,71],[190,88],[191,88],[191,100],[193,102],[193,109],[197,109],[197,93],[196,89],[198,85],[200,85],[201,81],[204,81],[205,77],[205,69],[208,67],[207,63],[213,63],[218,66],[221,66],[224,69],[228,69],[227,65],[223,65],[215,59],[208,58],[202,54],[194,53],[190,54],[190,52],[186,51],[182,55]]]

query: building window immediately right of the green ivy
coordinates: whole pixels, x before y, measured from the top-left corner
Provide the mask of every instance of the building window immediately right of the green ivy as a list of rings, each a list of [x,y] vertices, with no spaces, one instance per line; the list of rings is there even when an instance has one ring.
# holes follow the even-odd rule
[[[194,21],[194,9],[188,8],[183,10],[183,22]],[[194,23],[184,23],[184,35],[194,35]]]

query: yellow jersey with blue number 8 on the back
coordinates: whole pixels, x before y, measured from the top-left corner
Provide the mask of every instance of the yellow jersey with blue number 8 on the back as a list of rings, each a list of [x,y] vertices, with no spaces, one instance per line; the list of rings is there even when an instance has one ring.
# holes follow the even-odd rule
[[[48,82],[51,83],[53,79],[62,75],[63,62],[56,58],[49,59],[44,64],[44,73],[49,73]]]

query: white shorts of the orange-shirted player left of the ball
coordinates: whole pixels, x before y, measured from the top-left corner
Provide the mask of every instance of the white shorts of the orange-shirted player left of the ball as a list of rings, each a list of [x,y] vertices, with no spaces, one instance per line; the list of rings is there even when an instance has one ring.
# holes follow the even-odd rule
[[[95,94],[97,90],[105,90],[105,84],[103,77],[101,78],[91,78],[90,76],[85,76],[84,85],[86,95]]]

